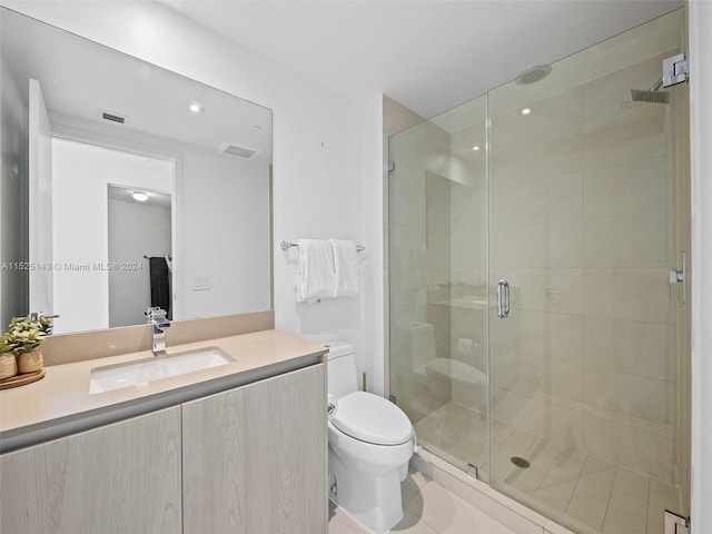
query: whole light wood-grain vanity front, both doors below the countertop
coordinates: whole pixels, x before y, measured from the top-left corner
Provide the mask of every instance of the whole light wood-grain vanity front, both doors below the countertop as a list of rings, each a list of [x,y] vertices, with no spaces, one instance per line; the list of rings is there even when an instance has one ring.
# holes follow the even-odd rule
[[[326,534],[325,365],[3,454],[0,532]]]

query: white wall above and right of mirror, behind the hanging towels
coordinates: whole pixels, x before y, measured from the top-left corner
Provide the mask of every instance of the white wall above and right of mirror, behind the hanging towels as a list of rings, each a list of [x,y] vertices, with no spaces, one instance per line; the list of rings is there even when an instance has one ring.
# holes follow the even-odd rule
[[[379,135],[379,127],[375,126],[380,120],[374,107],[375,96],[373,102],[356,109],[300,75],[216,36],[157,2],[7,1],[3,4],[270,108],[275,152],[276,326],[294,334],[335,333],[355,343],[362,367],[366,350],[370,353],[378,347],[383,352],[373,339],[368,346],[364,344],[365,320],[383,329],[383,320],[378,319],[380,297],[374,301],[373,296],[374,287],[382,283],[378,263],[382,250],[373,250],[375,256],[369,256],[370,244],[376,246],[380,238],[369,221],[369,239],[365,240],[364,191],[373,184],[364,184],[362,179],[363,144],[373,144],[370,136]],[[357,111],[368,113],[367,122]],[[368,170],[373,172],[375,165]],[[380,184],[380,175],[377,179]],[[368,198],[370,201],[370,195]],[[380,231],[380,222],[375,225]],[[279,243],[300,237],[354,239],[369,247],[362,267],[364,278],[358,298],[323,300],[319,305],[295,303],[295,266],[290,263],[291,256],[279,249]],[[373,369],[372,355],[366,359]],[[379,362],[383,364],[383,356]],[[369,379],[375,387],[374,382]]]

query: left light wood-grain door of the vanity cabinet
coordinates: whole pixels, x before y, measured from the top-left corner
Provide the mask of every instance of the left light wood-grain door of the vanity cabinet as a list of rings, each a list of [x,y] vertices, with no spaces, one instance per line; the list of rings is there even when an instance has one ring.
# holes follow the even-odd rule
[[[2,534],[180,532],[180,407],[0,456]]]

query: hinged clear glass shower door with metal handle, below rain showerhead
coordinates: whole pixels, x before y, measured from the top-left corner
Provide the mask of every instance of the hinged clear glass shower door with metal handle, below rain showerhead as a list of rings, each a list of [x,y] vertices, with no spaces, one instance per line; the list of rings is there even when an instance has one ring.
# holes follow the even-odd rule
[[[491,482],[575,532],[660,534],[663,508],[686,512],[669,284],[686,239],[686,88],[664,89],[670,103],[647,91],[683,21],[490,93],[491,295],[506,279],[511,297],[506,319],[491,313]]]

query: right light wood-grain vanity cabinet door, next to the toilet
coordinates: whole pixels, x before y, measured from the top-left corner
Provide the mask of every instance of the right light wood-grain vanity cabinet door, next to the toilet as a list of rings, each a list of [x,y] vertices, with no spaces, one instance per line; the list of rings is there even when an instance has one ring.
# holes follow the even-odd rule
[[[182,405],[184,533],[325,534],[325,364]]]

